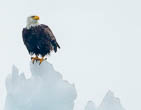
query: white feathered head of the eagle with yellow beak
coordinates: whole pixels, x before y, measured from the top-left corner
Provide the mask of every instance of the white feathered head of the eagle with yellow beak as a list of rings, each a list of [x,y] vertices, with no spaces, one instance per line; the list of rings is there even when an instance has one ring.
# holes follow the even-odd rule
[[[27,24],[26,24],[26,28],[27,29],[30,29],[31,27],[34,27],[34,26],[38,26],[39,25],[39,16],[29,16],[27,17]]]

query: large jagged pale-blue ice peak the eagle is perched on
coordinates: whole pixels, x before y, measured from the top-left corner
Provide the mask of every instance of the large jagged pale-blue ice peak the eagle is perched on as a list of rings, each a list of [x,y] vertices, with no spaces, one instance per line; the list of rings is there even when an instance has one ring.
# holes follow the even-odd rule
[[[4,110],[72,110],[76,99],[74,85],[62,79],[47,61],[30,63],[31,78],[26,79],[13,66],[7,77]]]

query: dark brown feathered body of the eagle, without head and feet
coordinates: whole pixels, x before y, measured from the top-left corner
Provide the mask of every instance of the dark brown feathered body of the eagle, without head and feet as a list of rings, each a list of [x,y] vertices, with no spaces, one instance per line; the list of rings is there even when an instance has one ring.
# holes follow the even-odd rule
[[[50,54],[52,50],[57,52],[57,48],[60,48],[50,28],[43,24],[30,29],[24,28],[22,36],[24,44],[31,55],[35,54],[44,57]]]

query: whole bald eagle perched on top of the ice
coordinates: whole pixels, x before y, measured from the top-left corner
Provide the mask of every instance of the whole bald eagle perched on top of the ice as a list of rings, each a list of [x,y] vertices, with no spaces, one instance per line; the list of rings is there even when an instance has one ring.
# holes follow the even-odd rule
[[[45,60],[45,56],[49,55],[51,51],[57,52],[60,48],[51,29],[44,24],[39,24],[39,16],[29,16],[27,18],[27,25],[23,28],[22,37],[23,42],[34,61],[39,61],[40,64]],[[41,56],[42,58],[39,58]]]

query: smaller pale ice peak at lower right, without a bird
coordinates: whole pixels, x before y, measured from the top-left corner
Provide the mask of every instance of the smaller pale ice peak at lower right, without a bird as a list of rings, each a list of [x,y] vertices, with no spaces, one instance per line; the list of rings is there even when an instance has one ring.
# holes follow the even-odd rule
[[[92,101],[88,101],[85,110],[125,110],[120,99],[114,96],[112,91],[108,91],[99,107],[95,107]]]

